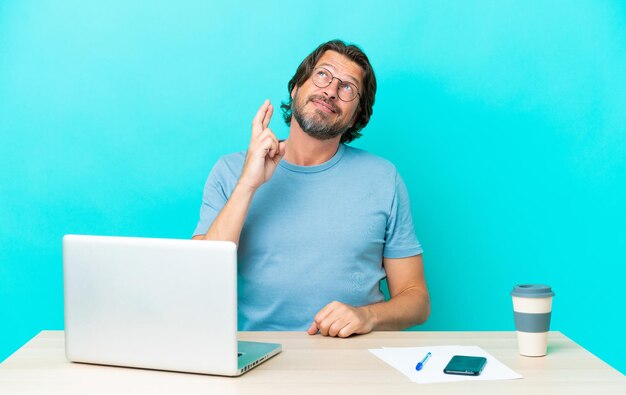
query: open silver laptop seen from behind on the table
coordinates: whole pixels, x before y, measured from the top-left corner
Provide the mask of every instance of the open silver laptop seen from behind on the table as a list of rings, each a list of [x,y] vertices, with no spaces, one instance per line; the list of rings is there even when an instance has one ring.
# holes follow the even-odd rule
[[[281,351],[237,341],[237,248],[228,241],[63,237],[72,362],[238,376]]]

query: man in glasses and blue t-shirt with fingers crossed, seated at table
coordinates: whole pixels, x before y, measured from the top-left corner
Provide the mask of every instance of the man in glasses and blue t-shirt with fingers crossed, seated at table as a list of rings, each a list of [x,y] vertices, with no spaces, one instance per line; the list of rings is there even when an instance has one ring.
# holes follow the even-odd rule
[[[288,139],[269,128],[266,100],[248,150],[209,174],[193,236],[238,245],[239,329],[348,337],[423,323],[430,300],[406,186],[389,161],[347,145],[372,114],[369,59],[329,41],[288,90]]]

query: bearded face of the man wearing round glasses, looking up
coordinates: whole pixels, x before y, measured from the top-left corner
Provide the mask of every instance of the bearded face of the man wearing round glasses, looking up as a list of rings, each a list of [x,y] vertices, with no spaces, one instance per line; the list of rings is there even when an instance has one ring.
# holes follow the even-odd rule
[[[291,92],[293,116],[306,134],[328,140],[352,127],[359,107],[359,96],[349,102],[339,98],[339,80],[351,82],[362,92],[363,69],[335,51],[324,52],[315,67],[324,68],[336,78],[327,87],[319,88],[311,76],[302,86],[294,88]]]

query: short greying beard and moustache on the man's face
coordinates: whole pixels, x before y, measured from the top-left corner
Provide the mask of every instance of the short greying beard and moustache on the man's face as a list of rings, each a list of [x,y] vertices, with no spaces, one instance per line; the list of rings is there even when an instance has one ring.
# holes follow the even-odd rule
[[[320,109],[314,109],[308,114],[305,113],[304,106],[312,101],[319,100],[330,105],[335,111],[338,119],[334,122],[331,121],[331,116],[335,114],[327,114]],[[296,121],[304,131],[304,133],[317,140],[330,140],[339,135],[342,135],[348,130],[349,120],[341,122],[341,110],[331,101],[327,100],[324,96],[311,95],[308,98],[299,98],[298,91],[294,95],[293,104],[291,106],[292,114],[296,118]]]

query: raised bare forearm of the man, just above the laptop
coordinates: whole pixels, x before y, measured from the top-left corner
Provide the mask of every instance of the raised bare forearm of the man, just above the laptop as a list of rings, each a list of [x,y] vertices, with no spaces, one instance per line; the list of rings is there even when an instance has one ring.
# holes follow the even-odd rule
[[[217,215],[204,240],[227,240],[239,245],[241,229],[248,215],[248,209],[255,190],[237,184],[230,198]]]

